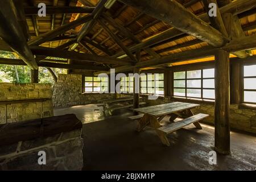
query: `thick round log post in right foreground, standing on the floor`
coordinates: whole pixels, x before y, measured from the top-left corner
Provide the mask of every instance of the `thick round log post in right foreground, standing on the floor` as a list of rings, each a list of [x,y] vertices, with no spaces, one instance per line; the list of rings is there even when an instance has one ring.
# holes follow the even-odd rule
[[[230,83],[229,52],[218,50],[215,55],[215,150],[230,154]]]

